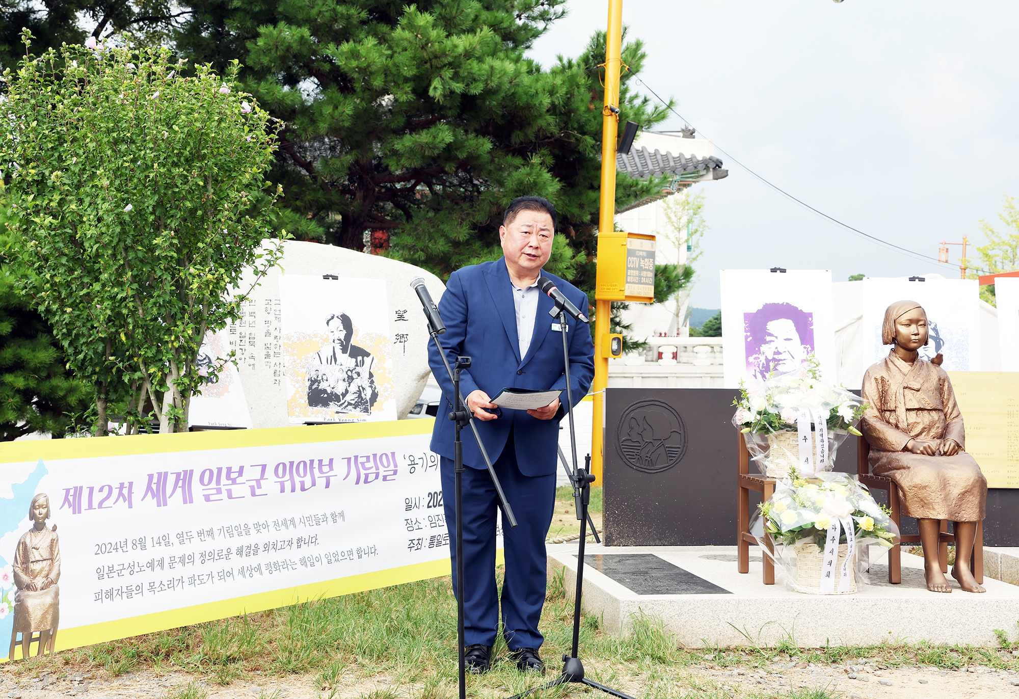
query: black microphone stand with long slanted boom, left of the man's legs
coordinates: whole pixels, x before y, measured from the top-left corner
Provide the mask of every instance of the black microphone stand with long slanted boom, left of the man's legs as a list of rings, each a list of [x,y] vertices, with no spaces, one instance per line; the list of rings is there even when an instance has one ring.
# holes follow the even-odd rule
[[[439,342],[439,330],[432,325],[427,308],[425,309],[425,317],[428,318],[428,334],[432,336],[435,348],[438,350],[439,357],[442,358],[442,364],[445,365],[446,373],[449,374],[449,380],[452,381],[453,410],[449,413],[449,419],[455,425],[455,437],[452,443],[452,464],[453,507],[457,512],[457,542],[454,544],[457,547],[457,646],[460,662],[460,699],[466,699],[467,668],[464,666],[464,443],[460,439],[460,431],[464,428],[464,425],[470,425],[474,431],[474,438],[478,441],[478,448],[481,449],[481,455],[488,467],[488,474],[492,477],[495,492],[498,493],[499,503],[502,505],[502,514],[505,516],[505,520],[511,527],[517,526],[517,518],[514,517],[513,507],[509,506],[506,496],[502,492],[502,484],[499,483],[499,478],[495,475],[495,469],[492,468],[492,462],[488,458],[488,451],[485,450],[484,443],[481,441],[481,435],[474,424],[474,417],[467,406],[467,400],[460,393],[460,372],[471,366],[471,358],[458,357],[455,368],[450,368],[445,351],[442,348],[442,343]],[[435,419],[438,420],[438,416]]]

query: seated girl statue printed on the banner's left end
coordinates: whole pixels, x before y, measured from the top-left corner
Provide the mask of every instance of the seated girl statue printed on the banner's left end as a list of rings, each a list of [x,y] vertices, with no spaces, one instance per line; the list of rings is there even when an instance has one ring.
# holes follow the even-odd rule
[[[39,632],[38,655],[52,654],[60,621],[60,543],[57,527],[46,527],[50,498],[39,493],[29,505],[32,528],[21,535],[14,549],[14,628],[7,657],[14,659],[14,645],[21,634],[21,657],[29,657],[32,634]]]

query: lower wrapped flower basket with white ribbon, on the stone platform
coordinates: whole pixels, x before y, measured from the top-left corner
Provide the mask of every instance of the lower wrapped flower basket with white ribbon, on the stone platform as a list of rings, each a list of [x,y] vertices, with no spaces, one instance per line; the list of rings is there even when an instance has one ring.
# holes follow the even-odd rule
[[[889,513],[855,476],[819,473],[775,484],[774,494],[760,504],[751,523],[761,549],[765,537],[775,544],[775,562],[797,592],[849,594],[865,582],[870,545],[891,548],[899,529]],[[795,552],[795,563],[787,555]],[[795,566],[795,569],[794,569]],[[795,581],[795,582],[794,582]]]

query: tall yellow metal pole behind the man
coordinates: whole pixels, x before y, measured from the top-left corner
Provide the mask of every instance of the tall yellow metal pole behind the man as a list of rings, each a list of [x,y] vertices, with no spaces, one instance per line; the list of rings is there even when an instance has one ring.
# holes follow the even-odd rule
[[[623,0],[608,0],[608,35],[605,40],[605,104],[602,108],[601,126],[601,208],[598,215],[598,232],[612,231],[615,226],[615,136],[619,126],[620,57],[623,41]],[[615,110],[614,112],[612,110]],[[598,236],[598,252],[601,252],[602,237]],[[596,268],[596,274],[602,271]],[[595,287],[597,288],[597,281]],[[602,357],[601,342],[608,334],[608,317],[611,302],[595,301],[594,321],[594,424],[591,435],[591,473],[595,484],[601,485],[602,450],[604,434],[602,411],[604,409],[604,388],[608,383],[608,358]]]

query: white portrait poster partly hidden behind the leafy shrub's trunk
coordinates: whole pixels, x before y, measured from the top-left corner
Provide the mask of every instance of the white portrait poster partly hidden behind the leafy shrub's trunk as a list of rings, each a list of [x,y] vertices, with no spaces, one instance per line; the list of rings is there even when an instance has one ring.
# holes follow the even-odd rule
[[[205,333],[205,341],[198,353],[202,393],[192,397],[187,411],[192,426],[253,427],[240,375],[229,356],[230,338],[226,328]],[[215,377],[211,376],[213,370],[218,370]]]

